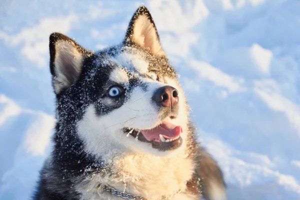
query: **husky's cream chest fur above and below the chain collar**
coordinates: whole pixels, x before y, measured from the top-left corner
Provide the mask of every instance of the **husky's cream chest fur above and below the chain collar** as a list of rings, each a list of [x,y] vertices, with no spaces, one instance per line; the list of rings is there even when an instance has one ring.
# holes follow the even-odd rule
[[[176,157],[157,157],[148,154],[132,154],[116,158],[110,169],[93,174],[88,182],[80,185],[82,199],[120,199],[99,184],[107,184],[120,191],[143,196],[148,200],[176,194],[172,199],[194,199],[185,194],[186,181],[193,173],[194,164],[184,154]]]

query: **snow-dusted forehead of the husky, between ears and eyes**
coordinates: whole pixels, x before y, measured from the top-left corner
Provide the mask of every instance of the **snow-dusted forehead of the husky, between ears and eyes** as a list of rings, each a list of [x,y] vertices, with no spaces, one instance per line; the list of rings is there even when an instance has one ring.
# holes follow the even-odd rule
[[[100,66],[107,67],[109,79],[120,84],[131,79],[152,77],[152,72],[164,82],[166,77],[177,78],[165,57],[156,57],[132,46],[112,46],[99,51],[97,55],[104,62]]]

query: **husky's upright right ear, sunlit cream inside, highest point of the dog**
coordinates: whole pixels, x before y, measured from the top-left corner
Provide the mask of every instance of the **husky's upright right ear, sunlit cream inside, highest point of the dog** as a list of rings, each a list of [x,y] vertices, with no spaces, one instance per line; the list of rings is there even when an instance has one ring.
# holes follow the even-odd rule
[[[144,6],[140,6],[133,14],[124,41],[137,44],[153,55],[165,56],[154,21],[149,10]]]

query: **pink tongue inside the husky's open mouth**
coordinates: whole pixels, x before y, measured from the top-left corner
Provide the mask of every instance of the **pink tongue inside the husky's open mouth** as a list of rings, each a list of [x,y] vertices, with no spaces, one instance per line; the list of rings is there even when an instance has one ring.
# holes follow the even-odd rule
[[[181,132],[181,126],[171,122],[163,122],[153,129],[141,130],[141,133],[148,141],[159,139],[159,134],[163,135],[165,139],[173,139],[178,137]]]

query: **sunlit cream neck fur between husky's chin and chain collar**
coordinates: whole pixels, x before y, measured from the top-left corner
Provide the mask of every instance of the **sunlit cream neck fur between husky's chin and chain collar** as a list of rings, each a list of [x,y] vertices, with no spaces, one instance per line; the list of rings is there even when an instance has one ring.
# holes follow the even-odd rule
[[[193,162],[183,151],[172,157],[131,153],[114,157],[109,167],[113,175],[104,175],[102,183],[113,185],[147,199],[159,199],[175,191],[186,190],[193,173]]]

